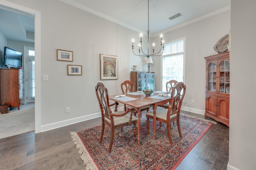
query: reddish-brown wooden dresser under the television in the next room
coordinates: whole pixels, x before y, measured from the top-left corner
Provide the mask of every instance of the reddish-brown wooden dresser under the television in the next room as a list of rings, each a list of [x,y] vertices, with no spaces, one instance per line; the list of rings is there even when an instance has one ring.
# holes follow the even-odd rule
[[[24,103],[24,71],[22,69],[0,69],[1,105],[17,107]]]

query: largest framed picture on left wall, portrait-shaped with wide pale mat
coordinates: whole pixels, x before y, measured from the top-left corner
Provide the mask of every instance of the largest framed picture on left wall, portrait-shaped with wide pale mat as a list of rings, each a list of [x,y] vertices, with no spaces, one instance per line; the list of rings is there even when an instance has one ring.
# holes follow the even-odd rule
[[[118,79],[118,56],[100,54],[100,79]]]

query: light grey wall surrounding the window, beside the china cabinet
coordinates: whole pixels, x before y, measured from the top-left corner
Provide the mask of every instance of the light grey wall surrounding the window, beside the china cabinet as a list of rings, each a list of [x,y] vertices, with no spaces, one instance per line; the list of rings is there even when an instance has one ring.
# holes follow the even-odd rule
[[[205,108],[205,77],[206,63],[204,57],[209,53],[216,53],[214,45],[230,30],[230,10],[195,22],[188,26],[173,30],[164,34],[164,41],[170,41],[186,37],[186,107],[188,111],[204,114]],[[159,42],[158,37],[154,42]],[[157,45],[156,45],[157,46]],[[152,70],[156,73],[156,89],[161,87],[161,58],[153,57]],[[194,99],[195,103],[191,103]]]

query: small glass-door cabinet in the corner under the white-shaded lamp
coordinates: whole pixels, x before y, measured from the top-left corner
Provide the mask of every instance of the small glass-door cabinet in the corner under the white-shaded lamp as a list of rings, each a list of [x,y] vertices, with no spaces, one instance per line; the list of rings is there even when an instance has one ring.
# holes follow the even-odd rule
[[[131,71],[131,81],[134,83],[135,91],[143,91],[144,89],[155,90],[155,73]]]

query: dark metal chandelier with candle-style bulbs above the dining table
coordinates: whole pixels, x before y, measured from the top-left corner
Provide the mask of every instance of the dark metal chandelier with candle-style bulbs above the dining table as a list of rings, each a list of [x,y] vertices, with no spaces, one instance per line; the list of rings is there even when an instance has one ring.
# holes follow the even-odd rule
[[[134,55],[136,55],[136,56],[140,56],[140,57],[153,57],[153,56],[161,56],[163,53],[164,53],[164,40],[162,40],[162,37],[163,37],[163,35],[161,34],[160,35],[160,38],[161,38],[161,41],[160,41],[160,50],[157,52],[157,53],[155,53],[155,49],[154,49],[154,46],[155,46],[155,43],[153,43],[152,44],[152,46],[153,46],[153,53],[152,54],[150,54],[149,53],[149,0],[148,0],[148,53],[145,53],[144,51],[143,51],[143,49],[142,49],[142,33],[140,33],[140,43],[139,43],[139,53],[138,54],[136,54],[136,53],[134,53],[134,45],[133,45],[133,43],[134,43],[134,39],[132,39],[132,52],[134,53]],[[161,53],[161,49],[163,49],[162,50],[162,53]],[[140,53],[140,52],[142,52],[142,54]]]

